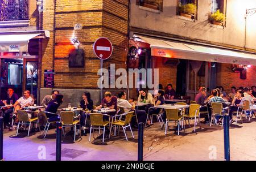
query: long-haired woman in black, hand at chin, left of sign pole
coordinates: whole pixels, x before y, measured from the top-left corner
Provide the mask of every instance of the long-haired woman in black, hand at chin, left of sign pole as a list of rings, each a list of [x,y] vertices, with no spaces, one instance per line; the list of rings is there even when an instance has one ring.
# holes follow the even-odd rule
[[[89,112],[90,110],[93,109],[93,101],[90,99],[90,93],[89,92],[84,92],[82,94],[82,100],[80,101],[80,106],[84,111],[81,113],[81,118],[80,118],[80,124],[81,124],[81,130],[85,130],[85,113]]]

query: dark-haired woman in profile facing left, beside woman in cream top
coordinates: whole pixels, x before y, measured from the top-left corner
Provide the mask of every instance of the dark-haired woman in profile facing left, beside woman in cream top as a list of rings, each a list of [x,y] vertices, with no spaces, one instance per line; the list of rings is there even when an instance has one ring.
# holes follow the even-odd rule
[[[153,99],[154,106],[158,105],[163,105],[164,104],[164,91],[159,90],[158,91],[158,96],[154,97]],[[152,114],[158,114],[160,112],[160,108],[152,108],[148,110],[148,121],[147,121],[147,126],[151,126],[150,124],[150,116]]]

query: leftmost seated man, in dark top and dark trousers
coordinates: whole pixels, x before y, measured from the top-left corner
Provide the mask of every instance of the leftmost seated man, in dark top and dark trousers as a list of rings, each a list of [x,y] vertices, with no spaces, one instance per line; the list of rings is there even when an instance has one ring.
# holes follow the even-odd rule
[[[7,96],[6,96],[6,104],[7,105],[13,105],[18,100],[18,95],[14,93],[13,88],[9,88],[7,90]],[[13,113],[13,106],[10,106],[9,108],[4,108],[3,113],[3,122],[9,127],[10,122],[10,114]]]

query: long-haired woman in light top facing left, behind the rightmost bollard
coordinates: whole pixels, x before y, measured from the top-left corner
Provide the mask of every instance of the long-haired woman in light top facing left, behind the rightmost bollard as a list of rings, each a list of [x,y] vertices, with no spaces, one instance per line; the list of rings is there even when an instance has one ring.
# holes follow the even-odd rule
[[[237,91],[236,96],[234,96],[233,101],[231,103],[231,108],[229,109],[229,120],[230,123],[233,122],[233,112],[238,110],[238,107],[243,105],[243,101],[245,101],[245,96],[243,95],[243,92],[241,90]]]

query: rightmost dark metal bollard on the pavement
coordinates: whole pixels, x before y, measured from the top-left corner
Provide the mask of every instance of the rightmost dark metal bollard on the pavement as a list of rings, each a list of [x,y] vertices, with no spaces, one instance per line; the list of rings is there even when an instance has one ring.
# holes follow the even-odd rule
[[[230,161],[229,115],[224,115],[224,152],[225,160]]]

